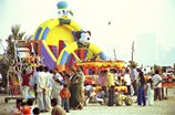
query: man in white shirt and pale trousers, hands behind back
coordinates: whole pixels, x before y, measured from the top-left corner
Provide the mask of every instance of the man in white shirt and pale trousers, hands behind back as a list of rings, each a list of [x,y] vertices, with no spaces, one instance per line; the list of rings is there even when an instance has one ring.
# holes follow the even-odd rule
[[[39,76],[38,76],[38,86],[37,86],[37,91],[38,91],[38,97],[39,97],[39,108],[40,111],[47,112],[49,109],[45,109],[45,98],[48,98],[47,92],[48,92],[48,87],[49,87],[49,77],[48,74],[45,72],[43,72],[43,66],[40,65],[39,66]]]

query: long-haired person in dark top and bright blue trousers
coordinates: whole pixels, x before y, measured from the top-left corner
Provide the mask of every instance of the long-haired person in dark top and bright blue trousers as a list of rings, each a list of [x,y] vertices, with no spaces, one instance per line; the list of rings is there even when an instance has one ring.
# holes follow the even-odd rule
[[[138,80],[138,92],[137,92],[137,105],[141,106],[143,103],[143,106],[145,106],[146,105],[146,97],[145,97],[146,81],[145,81],[143,72],[140,72],[138,79],[140,80]]]

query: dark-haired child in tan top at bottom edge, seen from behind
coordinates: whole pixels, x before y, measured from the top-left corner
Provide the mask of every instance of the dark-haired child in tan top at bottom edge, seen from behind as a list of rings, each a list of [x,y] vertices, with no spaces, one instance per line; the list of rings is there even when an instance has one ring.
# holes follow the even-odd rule
[[[51,105],[52,105],[52,112],[51,115],[66,115],[64,109],[58,105],[58,98],[52,98],[51,100]]]

